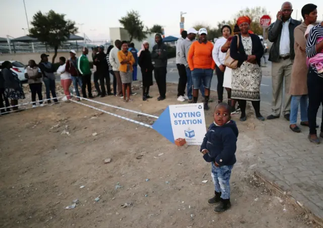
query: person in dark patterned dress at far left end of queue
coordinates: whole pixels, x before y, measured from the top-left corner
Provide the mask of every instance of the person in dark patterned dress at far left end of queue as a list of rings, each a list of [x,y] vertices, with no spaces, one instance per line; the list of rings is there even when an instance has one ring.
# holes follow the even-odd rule
[[[12,70],[12,64],[9,61],[5,61],[2,64],[2,73],[5,79],[5,97],[11,99],[11,105],[18,105],[19,99],[25,99],[25,94],[22,88],[21,81],[18,75]],[[18,107],[13,107],[14,110],[18,110]]]

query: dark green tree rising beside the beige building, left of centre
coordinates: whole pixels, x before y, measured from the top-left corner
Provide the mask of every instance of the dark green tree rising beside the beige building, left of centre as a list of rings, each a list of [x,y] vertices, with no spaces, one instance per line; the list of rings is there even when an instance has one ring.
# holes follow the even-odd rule
[[[144,31],[145,26],[140,20],[140,15],[137,11],[132,10],[130,12],[127,12],[127,15],[119,19],[119,22],[127,30],[130,42],[132,41],[132,39],[142,41],[147,37],[146,32]]]

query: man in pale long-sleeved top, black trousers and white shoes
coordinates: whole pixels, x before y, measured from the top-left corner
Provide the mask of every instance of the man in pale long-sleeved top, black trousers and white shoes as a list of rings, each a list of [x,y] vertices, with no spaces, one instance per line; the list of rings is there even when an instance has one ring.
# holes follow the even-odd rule
[[[181,36],[177,40],[176,44],[176,67],[178,70],[178,74],[180,78],[178,79],[178,86],[177,86],[177,100],[178,101],[185,101],[188,100],[188,96],[185,95],[185,87],[187,83],[187,76],[185,66],[181,63],[181,56],[180,56],[180,47],[183,40],[187,37],[187,31],[182,31]]]

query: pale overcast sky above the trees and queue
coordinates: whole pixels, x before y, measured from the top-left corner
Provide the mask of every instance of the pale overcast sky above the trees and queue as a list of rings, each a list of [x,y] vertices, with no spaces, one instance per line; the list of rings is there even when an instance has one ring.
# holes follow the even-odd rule
[[[185,12],[185,29],[195,24],[203,23],[210,27],[216,27],[218,22],[231,20],[233,16],[247,7],[262,7],[270,12],[272,22],[280,10],[284,1],[270,0],[255,3],[251,0],[230,0],[197,2],[196,0],[25,0],[29,22],[37,12],[43,13],[53,10],[57,13],[66,14],[66,19],[75,21],[79,27],[79,35],[85,33],[89,39],[100,41],[109,40],[109,28],[121,27],[119,19],[128,11],[135,10],[141,15],[145,26],[152,27],[153,24],[164,26],[165,35],[179,36],[180,12]],[[318,20],[323,20],[323,1],[314,0],[308,2],[317,5]],[[294,12],[293,18],[301,18],[301,8],[307,4],[301,0],[292,1]],[[28,34],[26,14],[23,0],[0,0],[0,37],[10,35],[20,37],[24,32]],[[83,24],[82,26],[79,24]]]

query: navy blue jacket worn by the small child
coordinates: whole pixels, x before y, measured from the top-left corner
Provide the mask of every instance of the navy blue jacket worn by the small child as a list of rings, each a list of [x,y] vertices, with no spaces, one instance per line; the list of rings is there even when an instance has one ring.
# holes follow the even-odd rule
[[[201,149],[207,149],[203,158],[207,162],[216,161],[219,165],[233,165],[236,163],[238,128],[231,120],[223,126],[211,124],[203,139]]]

